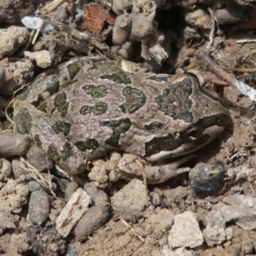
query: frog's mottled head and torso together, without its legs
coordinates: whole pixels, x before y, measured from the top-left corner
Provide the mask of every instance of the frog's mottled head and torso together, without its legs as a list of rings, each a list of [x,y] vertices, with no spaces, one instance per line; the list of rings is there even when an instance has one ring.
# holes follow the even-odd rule
[[[162,157],[161,152],[188,154],[228,123],[228,110],[189,75],[175,82],[170,75],[125,73],[98,63],[80,68],[69,80],[58,83],[56,78],[54,84],[64,84],[63,89],[39,108],[55,120],[53,131],[64,132],[86,159],[113,149],[148,160]],[[44,81],[39,90],[46,85]]]

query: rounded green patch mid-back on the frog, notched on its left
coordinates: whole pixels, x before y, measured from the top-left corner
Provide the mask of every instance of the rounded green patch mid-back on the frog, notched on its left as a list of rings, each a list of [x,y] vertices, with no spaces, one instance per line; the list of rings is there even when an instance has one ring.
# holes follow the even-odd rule
[[[146,96],[141,90],[126,86],[123,89],[123,95],[125,96],[125,103],[119,106],[123,113],[134,113],[145,105]]]

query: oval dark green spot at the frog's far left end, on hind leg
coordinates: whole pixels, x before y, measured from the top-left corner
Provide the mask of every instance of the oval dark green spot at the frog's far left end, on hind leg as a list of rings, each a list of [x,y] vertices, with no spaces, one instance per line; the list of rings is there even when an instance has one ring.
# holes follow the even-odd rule
[[[26,108],[20,108],[20,111],[15,115],[15,124],[18,133],[29,133],[32,128],[32,117]]]

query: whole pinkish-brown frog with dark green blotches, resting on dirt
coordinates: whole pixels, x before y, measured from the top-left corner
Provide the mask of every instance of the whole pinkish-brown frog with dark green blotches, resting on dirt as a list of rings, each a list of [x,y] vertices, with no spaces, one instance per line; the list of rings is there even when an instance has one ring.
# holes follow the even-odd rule
[[[15,132],[32,137],[70,175],[119,152],[154,166],[158,176],[165,162],[165,172],[176,176],[166,159],[188,160],[218,137],[230,122],[229,109],[193,73],[126,66],[79,57],[40,74],[15,99]]]

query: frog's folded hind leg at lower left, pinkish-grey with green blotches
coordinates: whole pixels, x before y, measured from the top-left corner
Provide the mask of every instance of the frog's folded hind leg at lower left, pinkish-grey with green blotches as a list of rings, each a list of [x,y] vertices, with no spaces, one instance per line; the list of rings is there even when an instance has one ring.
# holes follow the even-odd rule
[[[28,102],[16,100],[14,108],[15,132],[29,134],[38,147],[68,174],[84,172],[84,155],[68,142],[62,132],[64,122],[51,119]]]

